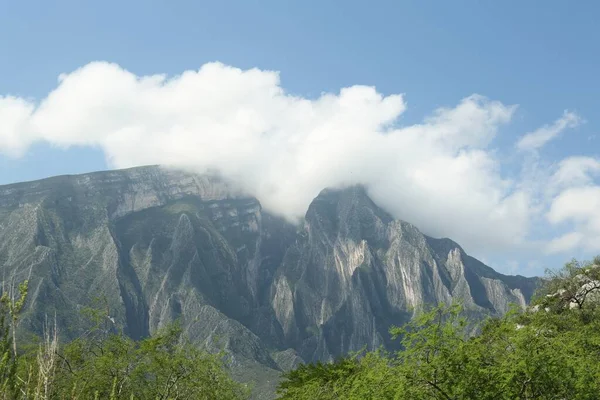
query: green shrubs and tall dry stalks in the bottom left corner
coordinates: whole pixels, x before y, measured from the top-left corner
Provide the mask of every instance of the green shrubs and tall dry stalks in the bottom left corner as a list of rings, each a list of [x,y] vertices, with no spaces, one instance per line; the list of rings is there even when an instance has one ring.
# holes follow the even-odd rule
[[[64,346],[47,324],[38,346],[17,347],[15,330],[27,295],[0,299],[0,399],[223,399],[248,397],[222,363],[185,341],[177,326],[135,342],[112,327],[109,316],[87,310],[90,328]],[[33,347],[32,351],[25,351]]]

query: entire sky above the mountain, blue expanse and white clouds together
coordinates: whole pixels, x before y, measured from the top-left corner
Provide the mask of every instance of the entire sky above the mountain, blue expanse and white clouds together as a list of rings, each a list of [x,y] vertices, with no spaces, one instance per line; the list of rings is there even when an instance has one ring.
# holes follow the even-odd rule
[[[495,269],[600,254],[600,3],[0,0],[0,184],[217,170],[297,221],[364,184]]]

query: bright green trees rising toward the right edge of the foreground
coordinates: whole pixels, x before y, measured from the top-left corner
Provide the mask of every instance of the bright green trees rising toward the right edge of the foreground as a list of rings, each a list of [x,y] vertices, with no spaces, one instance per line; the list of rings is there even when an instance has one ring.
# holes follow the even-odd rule
[[[528,310],[470,335],[458,305],[391,334],[403,350],[367,352],[284,375],[280,399],[598,399],[600,259],[550,273]]]

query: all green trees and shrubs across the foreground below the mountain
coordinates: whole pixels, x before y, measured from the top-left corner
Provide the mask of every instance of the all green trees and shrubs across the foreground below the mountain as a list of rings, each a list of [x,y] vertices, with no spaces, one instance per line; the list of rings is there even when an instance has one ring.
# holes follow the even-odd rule
[[[0,299],[0,397],[16,399],[246,399],[226,352],[186,340],[177,324],[134,341],[87,308],[88,329],[63,343],[18,334],[27,282]],[[598,399],[600,258],[549,271],[530,306],[473,329],[460,304],[415,311],[390,327],[401,350],[363,351],[283,374],[279,399]]]

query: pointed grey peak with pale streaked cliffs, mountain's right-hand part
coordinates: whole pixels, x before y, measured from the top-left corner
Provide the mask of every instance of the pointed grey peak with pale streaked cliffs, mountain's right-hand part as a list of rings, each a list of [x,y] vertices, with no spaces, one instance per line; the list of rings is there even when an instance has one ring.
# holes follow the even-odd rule
[[[378,208],[362,187],[311,204],[272,285],[286,343],[305,360],[393,347],[388,329],[427,305],[461,301],[474,316],[525,306],[535,279],[507,277],[449,239],[433,239]]]

